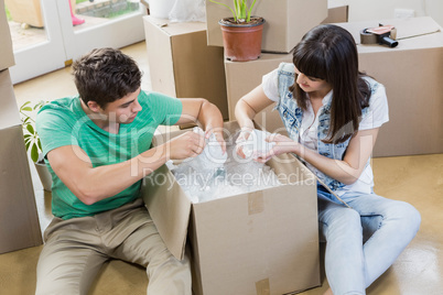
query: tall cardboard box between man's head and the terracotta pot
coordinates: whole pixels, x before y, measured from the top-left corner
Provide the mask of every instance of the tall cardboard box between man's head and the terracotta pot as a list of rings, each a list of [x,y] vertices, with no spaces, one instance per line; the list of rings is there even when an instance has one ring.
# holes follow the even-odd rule
[[[228,118],[223,48],[206,45],[202,22],[143,17],[152,90],[177,98],[206,98]]]

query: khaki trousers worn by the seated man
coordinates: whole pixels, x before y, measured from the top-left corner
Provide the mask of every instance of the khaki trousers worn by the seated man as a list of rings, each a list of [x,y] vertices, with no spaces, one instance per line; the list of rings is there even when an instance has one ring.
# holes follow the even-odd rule
[[[93,217],[54,218],[44,236],[35,294],[87,294],[109,259],[147,267],[149,295],[191,294],[188,259],[171,254],[140,198]]]

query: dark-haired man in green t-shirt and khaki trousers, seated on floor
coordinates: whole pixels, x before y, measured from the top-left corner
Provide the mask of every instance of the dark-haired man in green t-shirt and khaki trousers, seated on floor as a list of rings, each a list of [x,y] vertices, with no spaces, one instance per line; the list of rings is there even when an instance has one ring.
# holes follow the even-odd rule
[[[219,110],[205,99],[144,92],[136,62],[114,48],[91,51],[73,70],[79,96],[54,100],[37,114],[54,219],[36,294],[87,294],[109,259],[145,266],[149,294],[191,294],[190,262],[166,249],[139,190],[143,176],[205,145],[205,136],[186,132],[151,149],[155,129],[197,120],[225,149]]]

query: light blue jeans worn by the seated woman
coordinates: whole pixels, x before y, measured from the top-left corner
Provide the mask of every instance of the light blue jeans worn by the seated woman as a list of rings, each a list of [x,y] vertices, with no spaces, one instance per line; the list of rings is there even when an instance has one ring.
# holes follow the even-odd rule
[[[419,230],[411,205],[376,194],[347,193],[350,207],[318,188],[320,239],[326,241],[326,277],[334,295],[365,294]]]

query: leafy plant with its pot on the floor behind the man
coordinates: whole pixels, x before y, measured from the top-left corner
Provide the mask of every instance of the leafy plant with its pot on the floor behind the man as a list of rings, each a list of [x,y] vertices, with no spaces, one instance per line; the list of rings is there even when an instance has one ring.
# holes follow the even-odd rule
[[[43,160],[42,143],[35,129],[35,120],[33,119],[33,114],[35,114],[45,103],[45,101],[39,101],[34,106],[31,106],[31,101],[26,101],[20,107],[20,113],[26,151],[30,154],[32,162],[34,162],[43,189],[51,192],[52,177]]]

